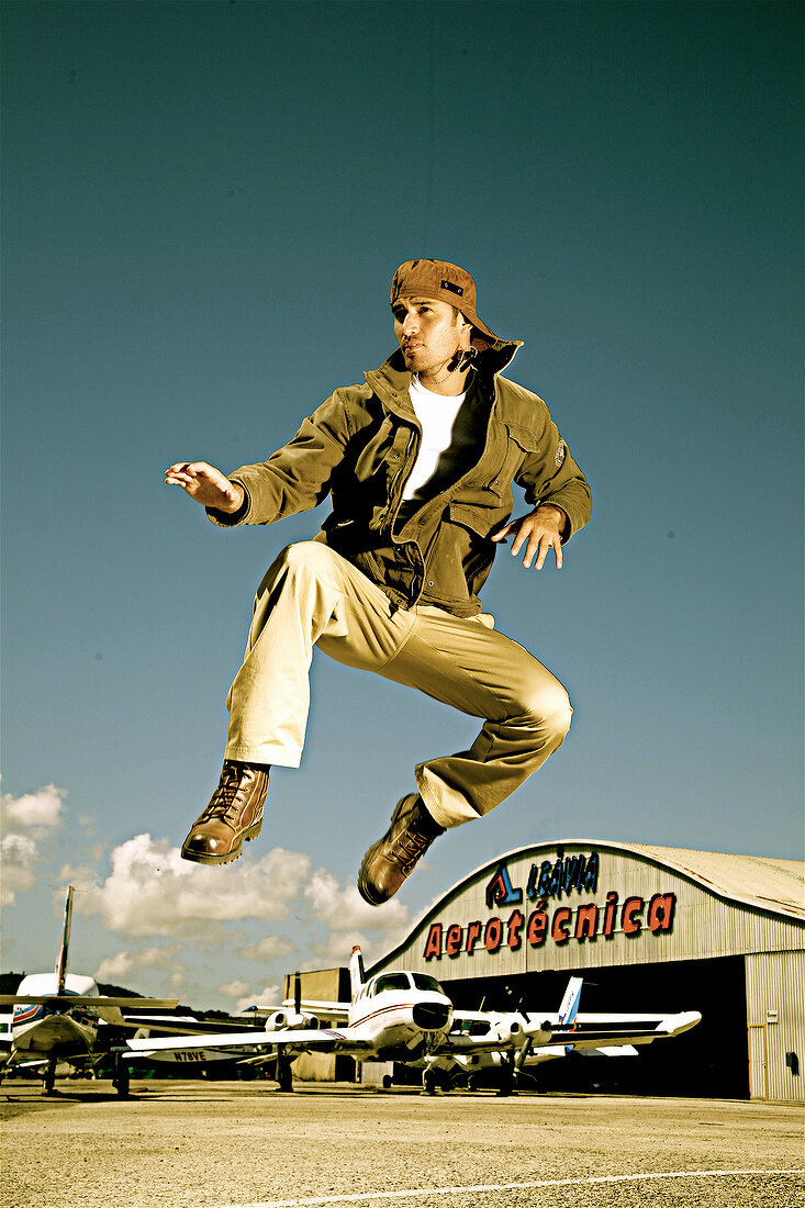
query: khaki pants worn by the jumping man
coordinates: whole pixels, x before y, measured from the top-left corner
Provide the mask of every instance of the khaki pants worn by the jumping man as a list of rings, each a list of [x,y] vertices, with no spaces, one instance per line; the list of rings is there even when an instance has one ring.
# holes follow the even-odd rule
[[[468,751],[416,768],[417,788],[440,825],[479,818],[562,744],[572,713],[558,680],[493,626],[483,614],[395,609],[323,542],[291,545],[255,598],[245,658],[227,699],[226,757],[299,767],[315,645],[341,663],[485,719]]]

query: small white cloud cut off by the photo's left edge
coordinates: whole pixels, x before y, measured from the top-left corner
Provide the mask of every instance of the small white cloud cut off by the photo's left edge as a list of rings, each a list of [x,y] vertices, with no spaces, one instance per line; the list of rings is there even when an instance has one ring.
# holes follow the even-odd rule
[[[10,792],[0,796],[0,905],[13,906],[18,893],[34,888],[40,843],[62,824],[65,791],[48,784],[22,797],[12,797]]]

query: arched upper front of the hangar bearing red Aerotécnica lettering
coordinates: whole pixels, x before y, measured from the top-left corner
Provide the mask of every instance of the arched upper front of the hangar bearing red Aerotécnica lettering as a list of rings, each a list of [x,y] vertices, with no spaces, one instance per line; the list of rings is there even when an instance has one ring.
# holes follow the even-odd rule
[[[665,852],[713,859],[688,859],[685,867],[661,859]],[[801,948],[805,908],[771,893],[765,910],[757,894],[728,894],[713,878],[720,859],[589,841],[523,848],[456,885],[375,969],[405,957],[405,968],[435,977],[500,977]],[[725,859],[739,861],[731,879],[746,889],[741,861],[749,858]],[[752,861],[766,892],[780,882],[781,863],[794,865]]]

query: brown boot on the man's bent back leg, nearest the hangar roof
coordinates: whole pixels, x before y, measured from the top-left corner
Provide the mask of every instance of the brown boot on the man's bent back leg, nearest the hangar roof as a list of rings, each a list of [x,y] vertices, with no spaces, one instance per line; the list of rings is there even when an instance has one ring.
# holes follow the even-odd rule
[[[383,837],[366,852],[358,873],[358,893],[370,906],[382,906],[393,898],[433,841],[445,827],[434,821],[412,792],[398,801],[392,824]]]

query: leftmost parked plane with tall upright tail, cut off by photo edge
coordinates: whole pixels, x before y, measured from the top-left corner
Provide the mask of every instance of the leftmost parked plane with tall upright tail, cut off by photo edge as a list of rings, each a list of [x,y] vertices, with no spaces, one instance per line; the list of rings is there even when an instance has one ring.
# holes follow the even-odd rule
[[[52,974],[31,974],[23,977],[13,994],[0,994],[0,1006],[13,1006],[11,1044],[2,1053],[5,1062],[0,1079],[15,1065],[44,1067],[45,1091],[53,1091],[56,1067],[68,1061],[75,1064],[95,1064],[106,1053],[115,1055],[112,1081],[120,1096],[128,1094],[129,1070],[120,1049],[120,1029],[139,1028],[141,1018],[134,1012],[169,1011],[175,999],[109,998],[103,995],[93,977],[66,971],[73,918],[70,885],[64,904],[62,946]],[[124,1014],[123,1014],[124,1012]],[[132,1018],[126,1018],[127,1015]],[[162,1023],[176,1030],[175,1017]],[[157,1027],[154,1022],[152,1027]],[[112,1040],[117,1041],[112,1046]]]

